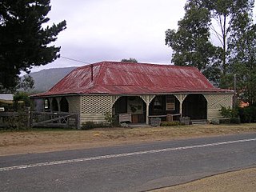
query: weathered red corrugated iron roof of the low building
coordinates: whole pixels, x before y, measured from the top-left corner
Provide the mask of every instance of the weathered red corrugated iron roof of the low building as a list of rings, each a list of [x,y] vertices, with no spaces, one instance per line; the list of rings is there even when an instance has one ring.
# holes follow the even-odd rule
[[[129,62],[98,62],[74,69],[39,96],[59,94],[168,94],[226,92],[196,68]]]

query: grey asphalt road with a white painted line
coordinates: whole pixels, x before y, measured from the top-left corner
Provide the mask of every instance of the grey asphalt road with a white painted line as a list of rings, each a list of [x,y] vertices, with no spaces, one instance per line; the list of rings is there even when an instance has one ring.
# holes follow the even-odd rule
[[[256,133],[0,157],[0,191],[145,191],[256,166]]]

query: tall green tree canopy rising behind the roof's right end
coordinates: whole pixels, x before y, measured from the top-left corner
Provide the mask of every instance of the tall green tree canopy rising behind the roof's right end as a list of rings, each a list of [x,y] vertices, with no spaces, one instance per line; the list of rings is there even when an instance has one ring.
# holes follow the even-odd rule
[[[187,0],[178,30],[166,30],[172,62],[195,66],[221,88],[256,104],[254,0]]]

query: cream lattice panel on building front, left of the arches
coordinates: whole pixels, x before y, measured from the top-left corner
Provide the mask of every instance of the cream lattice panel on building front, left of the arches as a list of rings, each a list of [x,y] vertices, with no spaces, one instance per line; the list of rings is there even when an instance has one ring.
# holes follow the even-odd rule
[[[112,111],[112,96],[82,96],[81,113],[103,114]]]

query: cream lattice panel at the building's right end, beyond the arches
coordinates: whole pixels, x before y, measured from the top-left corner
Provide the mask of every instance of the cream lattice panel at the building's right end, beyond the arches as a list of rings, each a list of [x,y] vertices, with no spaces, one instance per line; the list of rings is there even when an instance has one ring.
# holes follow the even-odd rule
[[[232,94],[208,94],[208,109],[221,109],[222,106],[232,106]]]

